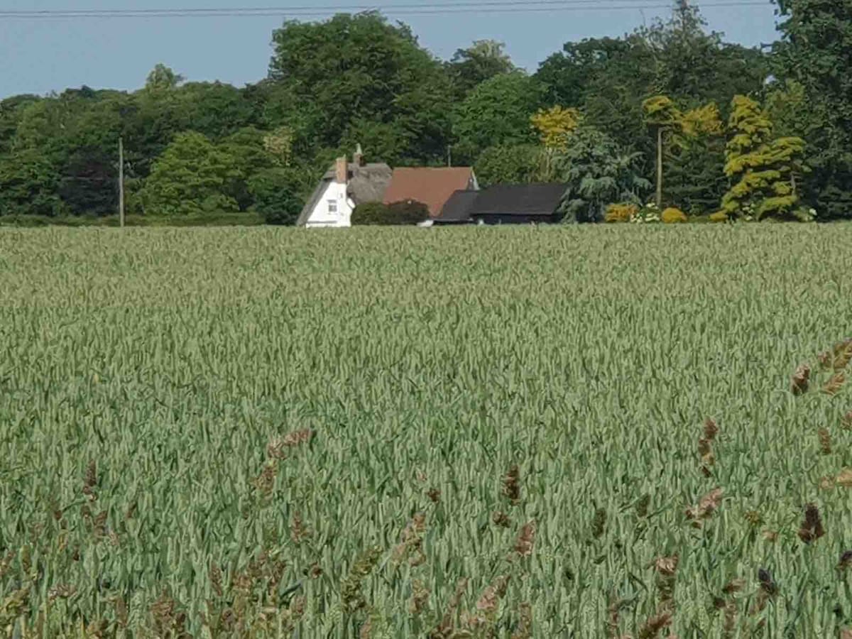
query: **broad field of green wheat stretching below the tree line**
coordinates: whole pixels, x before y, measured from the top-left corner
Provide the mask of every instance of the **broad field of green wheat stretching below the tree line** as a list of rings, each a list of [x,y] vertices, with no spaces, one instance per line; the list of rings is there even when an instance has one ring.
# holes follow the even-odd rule
[[[852,226],[3,230],[0,633],[838,636],[849,337]]]

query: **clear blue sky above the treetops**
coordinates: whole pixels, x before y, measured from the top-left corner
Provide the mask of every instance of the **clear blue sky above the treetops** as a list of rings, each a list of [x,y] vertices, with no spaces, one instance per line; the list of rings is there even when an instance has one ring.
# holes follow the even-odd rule
[[[440,58],[478,39],[506,43],[515,64],[533,72],[563,43],[584,37],[620,36],[655,16],[671,14],[667,0],[566,0],[575,9],[530,13],[484,10],[477,14],[403,15],[385,10],[391,20],[412,26],[420,43]],[[446,0],[366,0],[377,9]],[[518,5],[533,0],[517,0]],[[713,7],[724,3],[728,6]],[[748,3],[748,4],[746,4]],[[243,86],[266,76],[272,32],[287,17],[227,18],[87,18],[20,20],[3,11],[61,9],[207,9],[352,6],[353,0],[0,0],[0,99],[10,95],[45,95],[87,85],[93,89],[135,90],[158,63],[191,81]],[[551,5],[553,3],[551,2]],[[602,9],[602,6],[630,9]],[[634,6],[635,5],[635,6]],[[729,42],[770,43],[776,38],[769,0],[706,0],[702,14]],[[638,7],[644,7],[639,9]],[[699,3],[699,7],[701,4]],[[579,7],[579,9],[576,9]],[[334,11],[323,9],[320,14]],[[291,16],[292,17],[292,16]],[[320,15],[304,20],[317,20]]]

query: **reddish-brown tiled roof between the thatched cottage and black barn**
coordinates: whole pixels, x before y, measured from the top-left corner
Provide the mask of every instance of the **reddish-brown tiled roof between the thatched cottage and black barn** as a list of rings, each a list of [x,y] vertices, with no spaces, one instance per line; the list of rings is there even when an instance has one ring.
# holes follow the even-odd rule
[[[440,216],[446,200],[456,191],[463,191],[473,180],[470,167],[429,169],[394,169],[388,189],[384,192],[384,204],[414,200],[429,207],[429,215]]]

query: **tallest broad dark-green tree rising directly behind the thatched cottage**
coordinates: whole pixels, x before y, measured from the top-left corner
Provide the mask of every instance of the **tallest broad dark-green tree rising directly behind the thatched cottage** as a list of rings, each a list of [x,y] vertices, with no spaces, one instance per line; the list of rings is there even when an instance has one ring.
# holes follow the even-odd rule
[[[286,102],[280,121],[295,123],[307,107],[317,148],[337,148],[366,121],[393,127],[407,142],[406,159],[446,156],[450,80],[407,26],[377,13],[288,21],[273,33],[273,46],[269,79]]]

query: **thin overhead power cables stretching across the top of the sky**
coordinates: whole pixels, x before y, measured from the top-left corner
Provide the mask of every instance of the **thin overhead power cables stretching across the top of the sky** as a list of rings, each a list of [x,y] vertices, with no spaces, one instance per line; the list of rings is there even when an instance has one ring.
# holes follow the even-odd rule
[[[617,4],[607,4],[607,2]],[[625,9],[671,9],[672,3],[649,4],[648,0],[468,0],[467,2],[386,5],[325,5],[297,7],[253,7],[210,9],[43,9],[0,10],[0,20],[81,20],[141,18],[238,18],[238,17],[314,17],[331,12],[387,11],[398,15],[439,15],[481,13],[546,13],[555,11],[612,11]],[[701,7],[769,7],[768,0],[722,0],[701,3]]]

